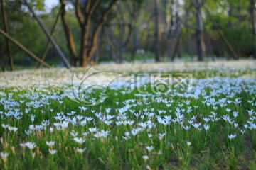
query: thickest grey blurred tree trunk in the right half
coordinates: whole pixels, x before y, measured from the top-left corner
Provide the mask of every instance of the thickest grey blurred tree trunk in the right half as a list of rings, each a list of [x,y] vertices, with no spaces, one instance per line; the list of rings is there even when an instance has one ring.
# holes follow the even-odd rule
[[[203,61],[206,53],[202,25],[201,3],[199,0],[196,0],[196,50],[198,53],[198,61]]]

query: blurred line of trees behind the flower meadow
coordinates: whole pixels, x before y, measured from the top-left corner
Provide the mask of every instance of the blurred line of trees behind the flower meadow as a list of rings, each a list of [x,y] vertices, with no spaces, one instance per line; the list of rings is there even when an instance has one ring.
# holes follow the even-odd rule
[[[194,56],[256,59],[255,0],[60,0],[50,12],[43,0],[28,3],[73,67]],[[7,26],[9,35],[38,58],[61,65],[23,0],[1,0],[0,18],[2,31]],[[35,63],[7,39],[0,35],[3,70],[10,56],[16,65]]]

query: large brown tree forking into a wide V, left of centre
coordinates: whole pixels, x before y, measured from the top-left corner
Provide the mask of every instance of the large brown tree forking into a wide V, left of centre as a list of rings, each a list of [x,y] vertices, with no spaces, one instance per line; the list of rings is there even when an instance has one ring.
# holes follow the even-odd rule
[[[71,1],[75,7],[75,15],[78,19],[81,30],[80,39],[80,54],[79,65],[86,67],[87,63],[92,58],[95,50],[97,50],[97,38],[102,29],[103,24],[107,21],[107,16],[110,15],[112,8],[118,0],[112,1],[100,1],[100,0],[75,0]],[[64,5],[64,1],[60,1],[60,4]],[[65,7],[63,8],[65,9]],[[75,56],[74,48],[72,44],[72,36],[68,31],[68,25],[63,23],[65,28],[65,34],[71,50],[70,54]],[[90,37],[90,33],[92,36]]]

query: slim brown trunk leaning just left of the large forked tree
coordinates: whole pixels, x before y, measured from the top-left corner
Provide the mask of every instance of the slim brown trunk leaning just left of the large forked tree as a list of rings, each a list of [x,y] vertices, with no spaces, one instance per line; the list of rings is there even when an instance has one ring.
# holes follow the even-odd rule
[[[65,30],[65,37],[67,40],[67,47],[70,52],[70,59],[71,59],[71,65],[76,66],[76,63],[78,62],[78,56],[75,50],[75,42],[73,39],[73,34],[71,33],[69,27],[68,27],[68,20],[66,17],[66,11],[65,11],[65,0],[60,0],[61,5],[61,21],[63,23],[63,28]]]

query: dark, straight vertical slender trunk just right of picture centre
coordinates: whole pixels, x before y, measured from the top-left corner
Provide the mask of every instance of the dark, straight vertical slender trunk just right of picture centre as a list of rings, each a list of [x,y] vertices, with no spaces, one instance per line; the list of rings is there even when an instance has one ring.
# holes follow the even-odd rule
[[[155,29],[154,29],[154,47],[155,47],[155,61],[160,62],[160,38],[159,38],[159,0],[154,0],[154,14],[155,14]]]

